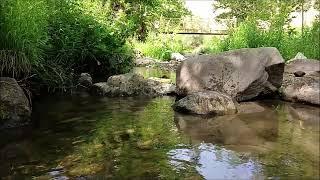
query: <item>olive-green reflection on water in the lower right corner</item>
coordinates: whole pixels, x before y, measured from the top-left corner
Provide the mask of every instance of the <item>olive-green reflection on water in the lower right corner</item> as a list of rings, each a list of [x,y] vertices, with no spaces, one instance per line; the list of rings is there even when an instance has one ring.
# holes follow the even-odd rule
[[[270,152],[260,154],[260,161],[265,165],[265,173],[271,176],[317,178],[320,163],[319,110],[310,114],[318,122],[313,127],[303,127],[306,119],[292,119],[289,108],[286,104],[277,107],[278,138]]]

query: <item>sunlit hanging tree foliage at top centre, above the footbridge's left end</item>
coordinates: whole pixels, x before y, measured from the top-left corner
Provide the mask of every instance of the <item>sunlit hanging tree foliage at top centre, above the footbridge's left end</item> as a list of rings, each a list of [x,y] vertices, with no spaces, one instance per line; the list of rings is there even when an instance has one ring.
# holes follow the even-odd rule
[[[188,14],[182,0],[107,0],[105,3],[114,18],[126,17],[128,27],[142,41],[160,17],[180,18]]]

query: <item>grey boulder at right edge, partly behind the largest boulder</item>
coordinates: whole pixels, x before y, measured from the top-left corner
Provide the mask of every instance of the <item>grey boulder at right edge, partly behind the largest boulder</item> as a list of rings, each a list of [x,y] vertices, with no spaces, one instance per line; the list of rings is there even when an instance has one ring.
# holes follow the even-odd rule
[[[288,63],[280,91],[284,100],[320,105],[320,61],[297,59]]]

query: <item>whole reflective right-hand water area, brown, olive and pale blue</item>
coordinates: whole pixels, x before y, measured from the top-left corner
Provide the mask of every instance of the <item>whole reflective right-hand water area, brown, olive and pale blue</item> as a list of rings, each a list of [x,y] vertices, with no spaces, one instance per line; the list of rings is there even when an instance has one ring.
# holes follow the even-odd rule
[[[188,153],[182,156],[181,149],[171,151],[169,156],[173,153],[173,159],[179,160],[172,164],[183,167],[186,159],[196,160],[191,164],[206,179],[319,177],[320,109],[283,102],[261,104],[264,111],[214,118],[175,113],[177,127],[195,147],[184,149]],[[223,154],[221,161],[216,160],[217,154]],[[247,160],[237,161],[246,156]],[[229,157],[237,157],[233,160],[240,164],[233,166]]]

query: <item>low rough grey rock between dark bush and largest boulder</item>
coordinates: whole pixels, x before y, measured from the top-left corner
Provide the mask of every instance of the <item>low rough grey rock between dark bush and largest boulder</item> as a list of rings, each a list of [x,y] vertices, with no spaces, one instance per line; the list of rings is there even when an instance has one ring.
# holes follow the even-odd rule
[[[175,85],[165,79],[150,78],[135,73],[109,77],[107,82],[93,85],[92,92],[100,96],[162,96],[175,93]]]

